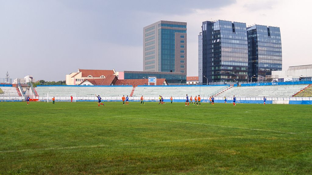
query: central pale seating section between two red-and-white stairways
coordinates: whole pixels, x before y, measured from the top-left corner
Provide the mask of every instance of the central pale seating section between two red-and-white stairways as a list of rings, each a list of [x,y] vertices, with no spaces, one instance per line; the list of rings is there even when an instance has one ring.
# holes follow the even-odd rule
[[[185,97],[186,94],[189,96],[196,96],[200,94],[202,97],[209,97],[217,94],[229,86],[138,86],[133,92],[134,97]]]

